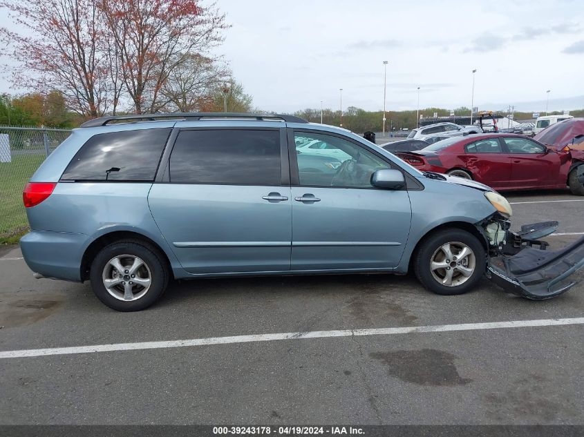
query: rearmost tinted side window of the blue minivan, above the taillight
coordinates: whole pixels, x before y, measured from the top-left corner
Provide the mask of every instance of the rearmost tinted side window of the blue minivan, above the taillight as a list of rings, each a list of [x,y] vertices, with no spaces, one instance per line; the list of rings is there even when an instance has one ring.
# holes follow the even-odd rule
[[[62,180],[152,182],[170,128],[93,135],[75,153]]]

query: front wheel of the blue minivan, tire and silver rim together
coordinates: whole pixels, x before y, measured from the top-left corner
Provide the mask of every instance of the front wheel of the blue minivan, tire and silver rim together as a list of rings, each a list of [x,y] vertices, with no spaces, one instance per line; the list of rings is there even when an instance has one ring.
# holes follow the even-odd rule
[[[467,293],[480,281],[486,255],[480,241],[462,229],[428,237],[414,259],[415,275],[426,289],[441,295]]]

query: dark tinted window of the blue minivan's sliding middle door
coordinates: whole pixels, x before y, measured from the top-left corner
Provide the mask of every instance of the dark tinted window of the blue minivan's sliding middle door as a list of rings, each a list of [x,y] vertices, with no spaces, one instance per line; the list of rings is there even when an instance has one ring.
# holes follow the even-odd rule
[[[181,130],[169,160],[173,184],[281,185],[279,130]]]

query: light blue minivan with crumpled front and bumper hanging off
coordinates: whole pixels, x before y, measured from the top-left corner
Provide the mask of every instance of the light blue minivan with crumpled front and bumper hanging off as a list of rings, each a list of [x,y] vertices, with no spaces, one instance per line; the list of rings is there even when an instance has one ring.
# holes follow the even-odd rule
[[[545,251],[536,238],[554,224],[511,233],[511,206],[491,188],[420,173],[347,130],[291,115],[93,119],[46,159],[23,200],[21,249],[35,276],[90,280],[120,311],[149,307],[173,279],[409,269],[443,295],[487,272],[543,299],[573,285],[584,248]]]

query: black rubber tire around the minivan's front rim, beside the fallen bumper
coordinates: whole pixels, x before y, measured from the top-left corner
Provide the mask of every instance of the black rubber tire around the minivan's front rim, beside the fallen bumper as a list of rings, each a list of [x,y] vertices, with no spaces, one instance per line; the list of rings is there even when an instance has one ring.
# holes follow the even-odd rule
[[[473,273],[466,277],[466,280],[464,280],[463,283],[458,285],[453,284],[448,286],[438,282],[435,275],[439,276],[442,273],[445,274],[446,270],[436,271],[435,274],[433,274],[431,269],[432,258],[439,255],[440,252],[437,251],[447,243],[454,244],[453,250],[457,244],[460,246],[462,243],[468,246],[474,255]],[[450,261],[453,262],[454,260]],[[469,262],[468,259],[467,262]],[[429,235],[424,241],[422,241],[420,247],[415,253],[413,267],[417,279],[422,282],[422,285],[424,285],[429,291],[440,295],[457,295],[467,293],[467,291],[470,291],[476,286],[476,284],[478,284],[482,275],[484,275],[484,271],[487,267],[487,260],[485,249],[477,237],[467,231],[463,231],[462,229],[444,229]],[[462,280],[462,276],[464,275],[456,270],[460,269],[460,267],[453,266],[451,269],[453,270],[452,275],[457,275],[455,278]]]

